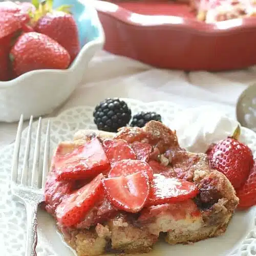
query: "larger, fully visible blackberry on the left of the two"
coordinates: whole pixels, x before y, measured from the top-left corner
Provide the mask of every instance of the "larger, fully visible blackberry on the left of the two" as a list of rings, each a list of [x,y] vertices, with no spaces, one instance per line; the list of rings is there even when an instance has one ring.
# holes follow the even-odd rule
[[[96,105],[93,116],[98,130],[117,132],[130,122],[132,112],[123,100],[106,98]]]

